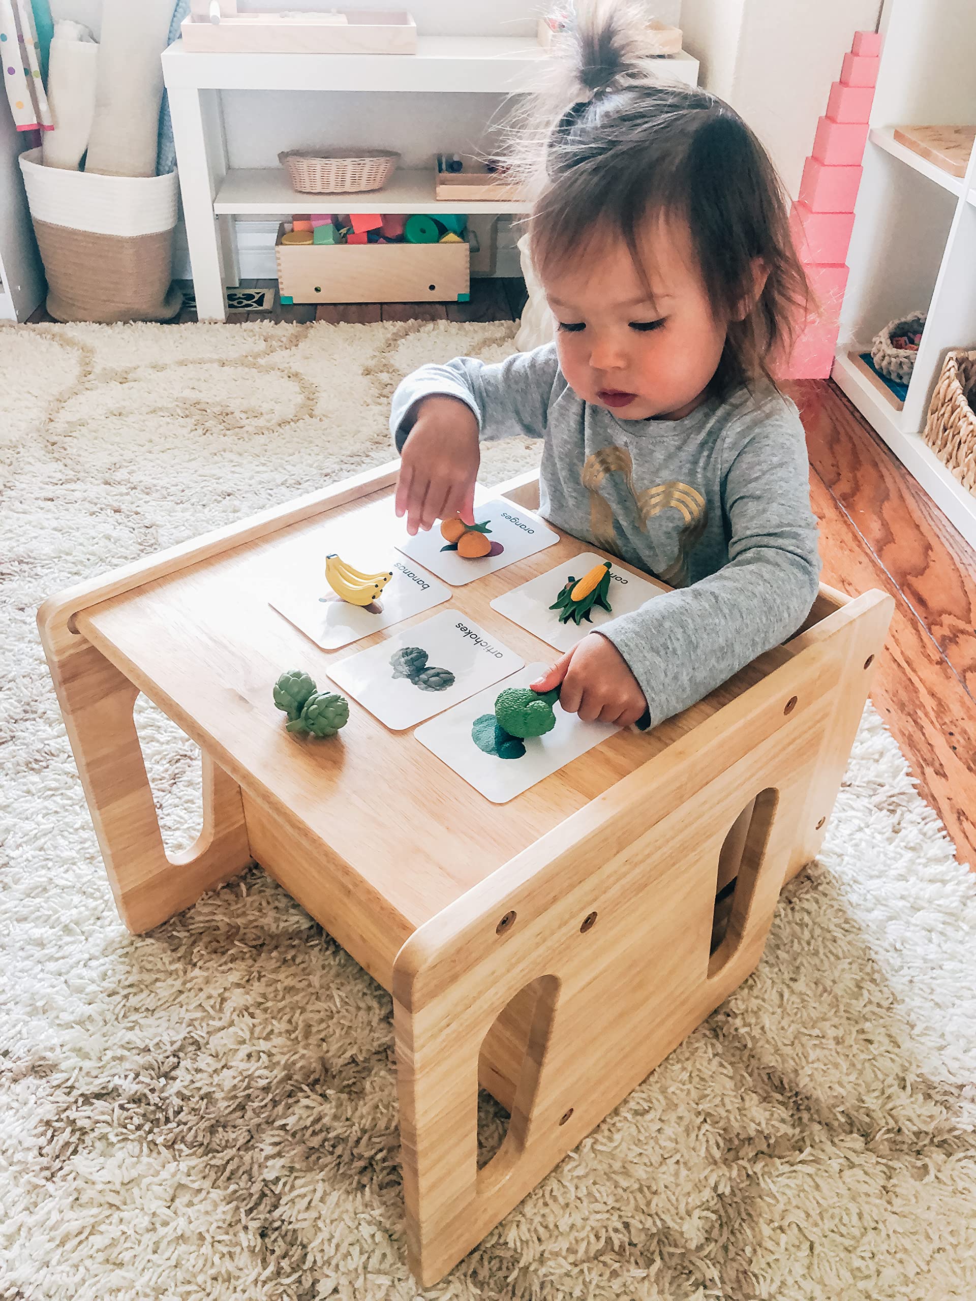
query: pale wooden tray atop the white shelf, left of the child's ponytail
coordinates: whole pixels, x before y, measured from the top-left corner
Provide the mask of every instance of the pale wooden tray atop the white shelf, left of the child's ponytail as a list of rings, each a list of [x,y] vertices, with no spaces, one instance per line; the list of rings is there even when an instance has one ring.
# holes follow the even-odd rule
[[[403,9],[345,9],[329,13],[238,13],[237,0],[217,0],[220,21],[207,17],[207,0],[180,27],[194,55],[415,55],[416,23]],[[215,10],[216,16],[216,10]]]

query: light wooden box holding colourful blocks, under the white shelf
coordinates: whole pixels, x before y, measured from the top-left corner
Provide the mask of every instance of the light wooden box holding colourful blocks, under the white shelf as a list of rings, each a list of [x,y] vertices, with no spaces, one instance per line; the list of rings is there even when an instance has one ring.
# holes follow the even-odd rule
[[[471,248],[458,243],[286,245],[278,226],[275,258],[284,303],[465,302]]]

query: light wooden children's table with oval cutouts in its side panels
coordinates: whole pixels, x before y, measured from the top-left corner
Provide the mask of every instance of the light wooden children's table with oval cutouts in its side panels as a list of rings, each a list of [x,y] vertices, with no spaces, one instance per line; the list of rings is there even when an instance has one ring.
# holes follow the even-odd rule
[[[821,588],[793,640],[700,704],[496,805],[357,701],[325,742],[289,734],[272,701],[282,670],[327,690],[333,661],[406,626],[325,652],[268,605],[280,549],[324,556],[323,524],[392,498],[397,468],[75,587],[38,621],[125,925],[157,926],[256,860],[392,993],[409,1259],[428,1285],[755,969],[820,847],[893,602]],[[536,477],[497,493],[531,509]],[[452,608],[552,660],[489,602],[582,545],[562,535]],[[203,751],[203,831],[172,860],[141,691]],[[481,1170],[479,1081],[511,1114]]]

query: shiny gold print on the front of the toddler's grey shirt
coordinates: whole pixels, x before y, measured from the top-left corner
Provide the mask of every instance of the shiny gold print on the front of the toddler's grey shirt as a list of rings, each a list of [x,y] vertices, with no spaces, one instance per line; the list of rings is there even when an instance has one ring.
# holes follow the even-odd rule
[[[603,448],[587,458],[580,475],[580,483],[590,493],[590,531],[593,541],[605,552],[619,556],[613,532],[613,511],[610,503],[600,496],[600,485],[606,475],[623,475],[627,490],[634,498],[640,515],[640,527],[647,532],[648,519],[660,515],[671,506],[685,518],[685,526],[678,535],[678,554],[657,576],[671,587],[686,587],[688,582],[688,552],[695,546],[708,524],[705,498],[698,489],[677,480],[656,484],[642,492],[634,489],[634,462],[626,448]]]

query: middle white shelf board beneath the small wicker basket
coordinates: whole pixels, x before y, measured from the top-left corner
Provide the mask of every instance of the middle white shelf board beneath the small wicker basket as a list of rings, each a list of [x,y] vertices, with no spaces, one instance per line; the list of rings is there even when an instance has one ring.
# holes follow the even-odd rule
[[[350,56],[351,57],[351,56]],[[500,199],[476,202],[455,199],[440,202],[435,198],[432,170],[397,170],[383,190],[366,194],[298,194],[291,189],[282,168],[233,169],[221,182],[213,200],[219,216],[276,215],[294,212],[524,212],[526,203]]]

